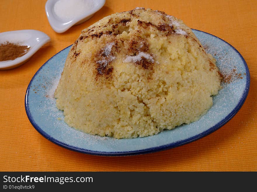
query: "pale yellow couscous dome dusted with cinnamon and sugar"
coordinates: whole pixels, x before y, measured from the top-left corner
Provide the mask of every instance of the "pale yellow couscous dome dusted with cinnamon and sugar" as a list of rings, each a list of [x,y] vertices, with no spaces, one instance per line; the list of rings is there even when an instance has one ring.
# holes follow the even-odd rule
[[[197,121],[220,81],[215,59],[183,21],[135,8],[81,32],[55,98],[71,127],[136,138]]]

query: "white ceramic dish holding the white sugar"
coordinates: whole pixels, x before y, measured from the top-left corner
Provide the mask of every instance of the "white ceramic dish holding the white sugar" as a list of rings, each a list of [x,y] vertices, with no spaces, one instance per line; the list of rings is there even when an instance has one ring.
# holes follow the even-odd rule
[[[45,6],[48,21],[53,30],[57,33],[63,33],[70,29],[70,27],[72,27],[73,25],[78,25],[90,19],[94,15],[94,13],[100,10],[105,4],[105,0],[94,0],[94,6],[91,10],[86,11],[84,14],[79,15],[74,19],[63,20],[59,18],[58,15],[56,15],[54,12],[54,5],[57,1],[59,0],[48,0]]]

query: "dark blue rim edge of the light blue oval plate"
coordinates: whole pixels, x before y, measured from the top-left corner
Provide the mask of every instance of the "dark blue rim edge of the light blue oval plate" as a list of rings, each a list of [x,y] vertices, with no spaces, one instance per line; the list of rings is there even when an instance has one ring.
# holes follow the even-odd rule
[[[203,31],[200,31],[200,30],[196,30],[196,29],[192,29],[192,31],[199,31],[199,32],[203,32]],[[216,37],[215,35],[212,35],[210,33],[207,33],[207,32],[203,32],[203,33],[206,33],[206,34],[209,34],[211,36],[214,36]],[[216,37],[218,39],[220,39],[219,37]],[[220,39],[222,41],[224,41],[223,39]],[[217,124],[215,124],[213,127],[209,128],[208,130],[206,130],[205,132],[202,132],[201,134],[198,134],[198,135],[195,135],[195,136],[192,136],[190,138],[187,138],[187,139],[184,139],[184,140],[181,140],[181,141],[177,141],[175,143],[169,143],[167,145],[162,145],[162,146],[158,146],[158,147],[152,147],[152,148],[146,148],[146,149],[143,149],[143,150],[137,150],[137,151],[126,151],[126,152],[101,152],[101,151],[91,151],[91,150],[86,150],[86,149],[83,149],[83,148],[78,148],[78,147],[74,147],[74,146],[71,146],[71,145],[67,145],[66,143],[63,143],[63,142],[60,142],[58,141],[57,139],[54,139],[52,138],[50,135],[48,135],[46,132],[44,132],[37,124],[36,122],[34,121],[30,111],[29,111],[29,104],[27,102],[27,96],[29,94],[29,88],[30,88],[30,85],[32,83],[32,81],[34,80],[34,78],[37,76],[37,74],[39,73],[39,71],[43,68],[43,66],[48,63],[49,60],[51,60],[53,57],[55,57],[56,55],[58,55],[61,51],[65,50],[65,49],[69,49],[72,45],[66,47],[65,49],[62,49],[61,51],[59,51],[58,53],[56,53],[54,56],[52,56],[50,59],[48,59],[46,61],[46,63],[44,63],[40,68],[39,70],[37,70],[37,72],[35,73],[35,75],[32,77],[31,81],[29,82],[29,85],[27,87],[27,91],[26,91],[26,94],[25,94],[25,110],[26,110],[26,114],[28,116],[28,119],[29,121],[31,122],[31,124],[33,125],[33,127],[42,135],[44,136],[46,139],[48,139],[49,141],[63,147],[63,148],[66,148],[66,149],[69,149],[69,150],[72,150],[72,151],[76,151],[76,152],[80,152],[80,153],[85,153],[85,154],[88,154],[88,155],[97,155],[97,156],[132,156],[132,155],[143,155],[143,154],[147,154],[147,153],[154,153],[154,152],[159,152],[159,151],[164,151],[164,150],[168,150],[168,149],[171,149],[171,148],[175,148],[175,147],[178,147],[178,146],[182,146],[182,145],[185,145],[187,143],[191,143],[193,141],[196,141],[198,139],[201,139],[211,133],[213,133],[214,131],[218,130],[220,127],[222,127],[223,125],[225,125],[228,121],[230,121],[235,115],[236,113],[239,111],[239,109],[242,107],[242,105],[244,104],[247,96],[248,96],[248,93],[249,93],[249,87],[250,87],[250,72],[249,72],[249,68],[246,64],[246,61],[244,60],[244,58],[242,57],[242,55],[239,53],[239,51],[237,51],[237,49],[235,49],[235,47],[233,47],[231,44],[229,44],[228,42],[224,41],[226,44],[228,44],[230,47],[232,47],[236,52],[237,54],[240,56],[240,58],[243,60],[243,63],[244,63],[244,67],[245,67],[245,70],[246,70],[246,87],[244,89],[244,92],[243,92],[243,95],[241,97],[241,99],[239,100],[237,106],[223,119],[221,120],[220,122],[218,122]]]

